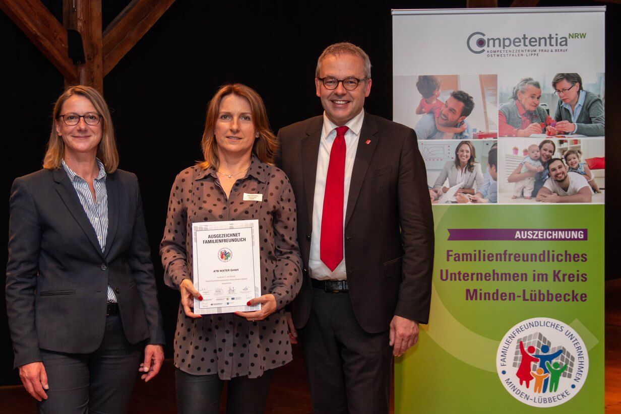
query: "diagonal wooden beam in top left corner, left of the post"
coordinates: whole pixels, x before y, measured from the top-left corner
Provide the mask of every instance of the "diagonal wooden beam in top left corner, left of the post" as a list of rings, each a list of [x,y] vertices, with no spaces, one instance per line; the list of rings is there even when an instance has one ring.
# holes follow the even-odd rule
[[[0,0],[0,9],[56,66],[65,79],[75,81],[78,70],[69,58],[67,31],[40,0]]]

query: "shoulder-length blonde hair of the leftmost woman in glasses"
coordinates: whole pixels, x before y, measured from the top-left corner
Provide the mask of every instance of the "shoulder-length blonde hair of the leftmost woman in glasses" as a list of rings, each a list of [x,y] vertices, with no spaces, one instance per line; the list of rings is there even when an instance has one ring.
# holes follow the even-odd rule
[[[63,109],[63,104],[71,96],[78,95],[83,96],[95,107],[95,110],[101,115],[102,132],[101,142],[97,145],[97,158],[104,164],[104,168],[107,173],[114,173],[119,166],[119,151],[117,150],[116,140],[114,139],[114,128],[112,127],[112,117],[110,110],[104,101],[104,97],[97,91],[97,89],[90,86],[76,85],[70,86],[65,89],[54,104],[52,111],[52,132],[50,132],[50,139],[47,142],[47,151],[43,156],[43,168],[45,169],[58,169],[61,167],[63,158],[65,158],[65,142],[63,138],[58,135],[56,126],[60,121],[60,111]]]

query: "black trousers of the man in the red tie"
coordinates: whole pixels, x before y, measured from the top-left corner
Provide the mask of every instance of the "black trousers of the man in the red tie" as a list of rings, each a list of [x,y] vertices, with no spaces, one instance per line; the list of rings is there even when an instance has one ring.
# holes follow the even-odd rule
[[[365,332],[347,292],[313,289],[311,316],[298,332],[314,413],[389,412],[392,348],[386,328]]]

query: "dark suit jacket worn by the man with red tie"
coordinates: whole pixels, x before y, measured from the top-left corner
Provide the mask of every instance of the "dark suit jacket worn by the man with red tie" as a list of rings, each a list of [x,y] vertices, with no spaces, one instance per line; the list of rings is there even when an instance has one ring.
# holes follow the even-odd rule
[[[278,132],[277,161],[296,195],[297,234],[306,266],[322,126],[318,116]],[[433,219],[425,164],[414,130],[368,113],[351,174],[345,261],[351,305],[365,331],[388,330],[394,315],[428,322]],[[306,267],[303,271],[302,289],[291,305],[298,328],[311,312],[311,279]]]

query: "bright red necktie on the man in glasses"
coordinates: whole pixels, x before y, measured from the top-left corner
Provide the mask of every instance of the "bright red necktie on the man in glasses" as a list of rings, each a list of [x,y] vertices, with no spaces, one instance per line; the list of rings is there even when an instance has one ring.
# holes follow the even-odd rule
[[[330,150],[330,163],[325,178],[324,210],[321,216],[321,261],[333,271],[343,260],[343,198],[345,196],[345,132],[338,127]]]

